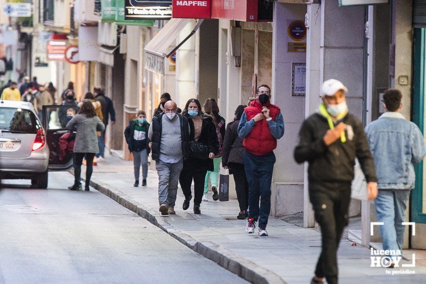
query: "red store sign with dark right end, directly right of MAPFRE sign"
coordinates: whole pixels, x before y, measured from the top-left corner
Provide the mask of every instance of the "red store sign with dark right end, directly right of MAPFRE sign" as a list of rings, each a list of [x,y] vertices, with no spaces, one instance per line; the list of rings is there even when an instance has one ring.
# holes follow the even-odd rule
[[[245,22],[272,21],[272,4],[258,0],[211,0],[211,18]]]

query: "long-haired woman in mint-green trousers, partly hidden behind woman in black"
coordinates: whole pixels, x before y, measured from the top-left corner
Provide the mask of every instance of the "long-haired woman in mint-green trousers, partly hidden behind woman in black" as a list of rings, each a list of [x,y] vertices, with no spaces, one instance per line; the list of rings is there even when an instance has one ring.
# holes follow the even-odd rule
[[[205,114],[211,116],[213,119],[213,124],[216,127],[216,135],[218,136],[219,141],[219,153],[213,159],[214,169],[212,171],[207,171],[204,180],[204,194],[203,201],[207,200],[208,193],[208,180],[210,180],[211,191],[213,192],[213,200],[219,199],[218,193],[218,184],[219,184],[219,170],[221,167],[222,160],[222,147],[223,147],[223,138],[225,137],[225,119],[219,114],[219,106],[214,98],[208,98],[205,100],[203,105],[203,111]]]

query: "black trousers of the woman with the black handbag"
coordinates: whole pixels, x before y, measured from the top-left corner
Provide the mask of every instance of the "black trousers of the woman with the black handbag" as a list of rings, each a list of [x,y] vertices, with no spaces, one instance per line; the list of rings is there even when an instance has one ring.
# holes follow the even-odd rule
[[[194,205],[200,205],[204,193],[204,180],[207,170],[194,169],[184,163],[184,168],[179,176],[179,183],[181,184],[182,191],[185,198],[191,196],[191,184],[194,180]]]

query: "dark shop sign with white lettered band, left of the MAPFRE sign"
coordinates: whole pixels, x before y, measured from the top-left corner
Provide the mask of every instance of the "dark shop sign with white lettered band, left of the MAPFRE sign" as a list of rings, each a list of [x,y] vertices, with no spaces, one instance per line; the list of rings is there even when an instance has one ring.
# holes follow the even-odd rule
[[[171,19],[171,0],[125,0],[126,20],[168,20]]]

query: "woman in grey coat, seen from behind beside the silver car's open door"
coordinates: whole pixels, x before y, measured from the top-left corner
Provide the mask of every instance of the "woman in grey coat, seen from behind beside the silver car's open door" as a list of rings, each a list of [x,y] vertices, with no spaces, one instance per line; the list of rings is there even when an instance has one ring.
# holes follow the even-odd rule
[[[90,177],[93,172],[93,159],[95,153],[99,152],[96,131],[102,131],[105,126],[101,119],[96,115],[93,103],[86,100],[82,103],[79,113],[73,117],[66,128],[72,130],[77,128],[74,144],[74,153],[76,157],[76,167],[74,170],[74,185],[70,190],[79,190],[81,187],[81,165],[83,158],[86,157],[86,184],[84,190],[89,191]]]

